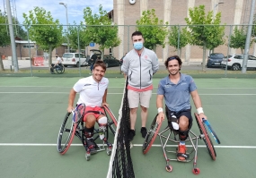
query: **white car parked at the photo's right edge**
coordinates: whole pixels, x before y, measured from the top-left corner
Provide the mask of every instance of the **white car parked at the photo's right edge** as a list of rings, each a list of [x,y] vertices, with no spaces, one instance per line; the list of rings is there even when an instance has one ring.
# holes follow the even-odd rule
[[[239,71],[243,67],[243,55],[228,55],[221,62],[222,66],[227,65],[228,69],[233,71]],[[248,55],[247,68],[256,69],[256,57],[253,55]]]

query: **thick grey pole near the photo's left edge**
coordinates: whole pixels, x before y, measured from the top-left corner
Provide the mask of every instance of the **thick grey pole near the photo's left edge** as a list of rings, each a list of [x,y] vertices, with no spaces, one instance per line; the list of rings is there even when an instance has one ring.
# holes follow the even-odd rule
[[[13,54],[12,61],[13,61],[13,65],[14,65],[14,72],[18,72],[19,65],[18,65],[18,59],[17,59],[17,54],[16,54],[15,38],[14,38],[14,33],[13,33],[13,19],[12,19],[12,13],[11,13],[10,0],[6,0],[6,10],[7,10],[10,38],[11,38],[11,46],[12,46],[12,54]]]

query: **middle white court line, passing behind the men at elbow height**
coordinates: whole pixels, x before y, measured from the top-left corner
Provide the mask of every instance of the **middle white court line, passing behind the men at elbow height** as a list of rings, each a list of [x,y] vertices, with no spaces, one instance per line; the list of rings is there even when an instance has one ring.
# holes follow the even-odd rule
[[[0,94],[69,94],[69,92],[0,92]],[[108,93],[108,95],[122,95],[123,93]],[[157,93],[152,93],[153,95],[156,95]],[[252,95],[256,95],[255,94],[221,94],[221,93],[216,93],[216,94],[199,94],[199,96],[201,95],[215,95],[215,96],[239,96],[239,95],[243,95],[243,96],[252,96]]]

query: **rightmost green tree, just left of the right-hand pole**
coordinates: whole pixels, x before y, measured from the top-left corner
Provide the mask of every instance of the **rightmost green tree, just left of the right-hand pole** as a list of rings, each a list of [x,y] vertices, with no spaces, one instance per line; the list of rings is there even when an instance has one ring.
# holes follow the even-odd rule
[[[247,34],[246,34],[246,30],[244,30],[244,28],[241,28],[241,30],[239,30],[238,27],[235,26],[234,34],[232,34],[230,36],[229,47],[240,48],[241,53],[243,54],[243,49],[245,47],[245,42],[246,42],[246,36],[247,36]]]

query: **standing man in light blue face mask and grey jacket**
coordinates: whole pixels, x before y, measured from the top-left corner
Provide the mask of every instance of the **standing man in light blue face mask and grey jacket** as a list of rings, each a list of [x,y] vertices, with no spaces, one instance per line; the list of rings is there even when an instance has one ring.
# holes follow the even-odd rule
[[[141,134],[146,137],[146,119],[148,107],[152,95],[152,78],[159,65],[154,51],[143,47],[144,38],[140,31],[135,31],[132,36],[134,49],[128,52],[123,59],[121,71],[125,78],[128,76],[128,103],[130,108],[130,131],[128,140],[135,136],[135,123],[137,119],[137,107],[141,107]]]

